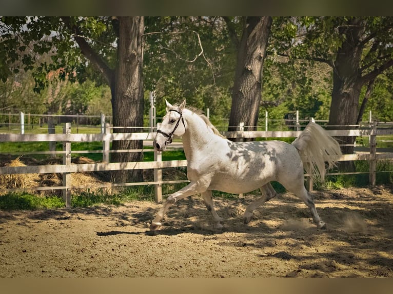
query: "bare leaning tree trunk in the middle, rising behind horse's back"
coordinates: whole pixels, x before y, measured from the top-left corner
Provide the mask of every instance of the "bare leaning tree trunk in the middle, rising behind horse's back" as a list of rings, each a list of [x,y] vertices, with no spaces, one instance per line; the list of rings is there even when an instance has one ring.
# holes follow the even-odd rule
[[[244,122],[245,131],[256,129],[271,22],[269,16],[246,18],[238,44],[228,131],[235,131],[240,122]]]

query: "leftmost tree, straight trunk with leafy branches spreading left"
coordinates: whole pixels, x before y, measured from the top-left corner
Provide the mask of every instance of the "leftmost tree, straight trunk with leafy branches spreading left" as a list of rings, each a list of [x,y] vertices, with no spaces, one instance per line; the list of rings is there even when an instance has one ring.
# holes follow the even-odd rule
[[[46,73],[56,69],[62,69],[60,79],[82,82],[93,77],[111,89],[115,131],[137,132],[143,127],[144,17],[2,17],[0,30],[3,80],[21,68],[33,70],[35,90],[40,91],[48,85]],[[51,62],[34,67],[39,54],[49,54]],[[113,141],[112,148],[142,149],[142,141]],[[141,161],[142,154],[113,153],[112,161]],[[142,172],[119,171],[113,178],[141,181]]]

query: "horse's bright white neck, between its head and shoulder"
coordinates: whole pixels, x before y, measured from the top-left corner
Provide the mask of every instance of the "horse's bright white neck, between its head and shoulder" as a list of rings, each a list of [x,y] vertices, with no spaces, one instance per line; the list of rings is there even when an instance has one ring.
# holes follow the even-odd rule
[[[196,113],[189,110],[184,112],[187,121],[187,132],[183,134],[183,148],[187,159],[211,142],[217,135],[214,135],[206,122]]]

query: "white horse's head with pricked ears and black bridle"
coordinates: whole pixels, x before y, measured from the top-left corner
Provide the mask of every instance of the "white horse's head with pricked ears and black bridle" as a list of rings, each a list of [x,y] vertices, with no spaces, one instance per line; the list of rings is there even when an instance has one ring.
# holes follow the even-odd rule
[[[163,151],[166,145],[172,143],[172,136],[182,136],[186,132],[186,124],[183,119],[183,110],[186,100],[179,107],[172,106],[167,100],[167,114],[163,117],[160,129],[157,130],[153,146],[158,151]]]

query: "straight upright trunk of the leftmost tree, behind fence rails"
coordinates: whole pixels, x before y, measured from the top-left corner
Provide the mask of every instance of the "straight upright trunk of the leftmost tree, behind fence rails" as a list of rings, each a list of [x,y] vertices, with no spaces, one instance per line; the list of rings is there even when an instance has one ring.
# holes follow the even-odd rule
[[[117,66],[111,82],[113,127],[143,127],[143,17],[119,17]],[[141,132],[139,128],[114,129],[117,133]],[[141,140],[113,141],[113,150],[142,149]],[[112,162],[142,161],[143,152],[113,153]],[[143,180],[141,170],[116,171],[114,182]]]

